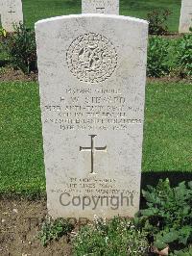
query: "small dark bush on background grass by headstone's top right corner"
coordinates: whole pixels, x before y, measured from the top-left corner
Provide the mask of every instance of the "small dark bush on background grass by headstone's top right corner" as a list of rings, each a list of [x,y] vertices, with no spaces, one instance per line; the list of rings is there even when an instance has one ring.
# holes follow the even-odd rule
[[[168,32],[167,20],[171,11],[169,9],[155,9],[147,14],[150,35],[165,35]]]

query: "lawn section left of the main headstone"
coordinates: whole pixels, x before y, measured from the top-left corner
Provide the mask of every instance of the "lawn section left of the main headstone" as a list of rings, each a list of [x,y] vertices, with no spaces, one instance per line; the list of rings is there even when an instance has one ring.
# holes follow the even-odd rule
[[[3,83],[0,91],[0,192],[44,192],[38,86]]]

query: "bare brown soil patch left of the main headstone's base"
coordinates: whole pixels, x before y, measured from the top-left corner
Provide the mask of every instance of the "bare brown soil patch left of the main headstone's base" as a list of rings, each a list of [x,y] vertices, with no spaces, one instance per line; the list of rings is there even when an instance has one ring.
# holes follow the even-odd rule
[[[47,215],[46,201],[27,199],[0,200],[1,256],[67,256],[71,245],[66,237],[44,247],[37,238],[42,220]]]

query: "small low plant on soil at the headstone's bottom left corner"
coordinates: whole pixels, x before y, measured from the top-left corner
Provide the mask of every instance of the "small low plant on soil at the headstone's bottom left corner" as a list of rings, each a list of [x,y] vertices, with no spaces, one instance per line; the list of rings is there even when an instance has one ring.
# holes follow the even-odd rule
[[[39,231],[38,238],[43,246],[52,240],[59,240],[62,236],[67,235],[73,230],[74,226],[64,218],[46,219]]]

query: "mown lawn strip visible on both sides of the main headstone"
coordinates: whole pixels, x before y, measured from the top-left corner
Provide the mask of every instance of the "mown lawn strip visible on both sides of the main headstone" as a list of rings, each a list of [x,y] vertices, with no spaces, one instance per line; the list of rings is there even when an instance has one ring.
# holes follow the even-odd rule
[[[192,171],[192,86],[146,91],[143,172]],[[38,85],[1,83],[0,192],[45,192]]]

